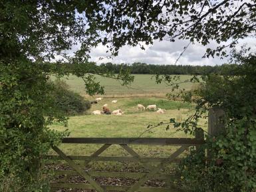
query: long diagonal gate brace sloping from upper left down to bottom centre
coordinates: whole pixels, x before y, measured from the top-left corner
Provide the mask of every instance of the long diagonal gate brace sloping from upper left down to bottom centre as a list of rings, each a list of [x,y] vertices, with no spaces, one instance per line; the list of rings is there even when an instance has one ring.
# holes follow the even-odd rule
[[[97,191],[100,192],[104,192],[105,190],[100,186],[99,183],[97,183],[96,181],[94,181],[94,179],[92,179],[92,177],[86,173],[84,170],[80,169],[80,167],[78,165],[76,165],[76,163],[74,163],[72,161],[72,159],[68,158],[63,151],[61,151],[61,149],[59,149],[56,146],[52,146],[53,150],[55,150],[66,162],[68,162],[68,164],[77,171],[77,173],[79,173],[79,175],[81,175],[82,177],[84,177],[84,179],[86,179],[86,181],[88,181],[90,183],[90,185],[92,185],[94,187],[94,189],[96,189]]]

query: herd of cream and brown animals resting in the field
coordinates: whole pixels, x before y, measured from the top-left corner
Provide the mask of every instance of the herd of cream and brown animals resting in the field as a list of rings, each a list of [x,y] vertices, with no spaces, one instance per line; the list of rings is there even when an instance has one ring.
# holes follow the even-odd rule
[[[97,104],[98,102],[100,102],[101,100],[103,100],[103,98],[96,98],[94,101],[91,102],[91,104]],[[111,101],[113,104],[116,104],[117,100],[112,100]],[[147,107],[144,107],[142,104],[138,104],[137,105],[137,111],[145,111],[145,110],[154,110],[156,111],[158,114],[164,114],[166,112],[165,109],[161,109],[161,108],[157,108],[156,104],[154,105],[148,105]],[[106,115],[116,115],[116,116],[122,116],[122,114],[124,114],[123,110],[114,110],[114,111],[110,111],[110,109],[108,108],[108,104],[104,104],[102,106],[102,110],[95,110],[92,112],[93,115],[101,115],[101,114],[106,114]]]

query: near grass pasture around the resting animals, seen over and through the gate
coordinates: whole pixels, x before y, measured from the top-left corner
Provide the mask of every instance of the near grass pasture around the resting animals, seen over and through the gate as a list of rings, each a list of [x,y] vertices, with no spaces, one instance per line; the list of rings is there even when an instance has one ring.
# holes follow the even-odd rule
[[[170,118],[176,118],[178,121],[184,120],[193,112],[193,106],[182,102],[164,100],[162,98],[119,98],[116,104],[111,103],[112,99],[104,99],[98,104],[93,104],[88,114],[83,116],[72,116],[68,120],[68,132],[70,137],[84,138],[187,138],[192,137],[176,130],[170,126],[159,126],[146,132],[149,124],[156,125],[160,122],[169,122]],[[156,112],[138,112],[136,105],[157,104],[161,108],[166,108],[165,114]],[[101,110],[103,104],[108,104],[110,110],[122,109],[124,115],[91,115],[93,110]],[[159,105],[158,105],[159,104]],[[161,106],[162,104],[162,106]],[[207,122],[201,122],[201,126],[206,128]],[[64,131],[66,128],[62,124],[54,124],[55,130]],[[61,148],[67,154],[72,155],[90,155],[100,145],[93,144],[62,144]],[[173,146],[147,146],[134,145],[134,149],[142,156],[166,156],[172,152]],[[118,146],[112,146],[102,155],[127,155],[127,153]]]

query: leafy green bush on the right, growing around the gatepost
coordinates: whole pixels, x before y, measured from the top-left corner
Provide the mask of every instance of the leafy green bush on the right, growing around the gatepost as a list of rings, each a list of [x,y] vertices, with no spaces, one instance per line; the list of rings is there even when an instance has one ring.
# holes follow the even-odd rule
[[[209,108],[225,112],[220,120],[225,126],[216,136],[208,135],[199,150],[178,167],[180,179],[175,183],[193,191],[256,191],[256,56],[233,52],[238,64],[227,74],[193,76],[188,82],[197,89],[170,93],[170,98],[182,98],[195,104],[195,112],[184,122],[171,119],[178,130],[195,134],[198,122],[207,118]],[[178,77],[157,76],[179,89]],[[205,154],[205,151],[206,154]]]

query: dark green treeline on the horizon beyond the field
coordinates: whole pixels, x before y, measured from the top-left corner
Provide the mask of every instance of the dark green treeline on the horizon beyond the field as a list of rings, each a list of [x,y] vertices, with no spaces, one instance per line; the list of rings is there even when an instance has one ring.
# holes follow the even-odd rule
[[[129,69],[132,74],[223,74],[231,70],[234,64],[215,66],[166,65],[134,62],[132,64],[102,63],[100,66],[118,73],[121,69]]]

